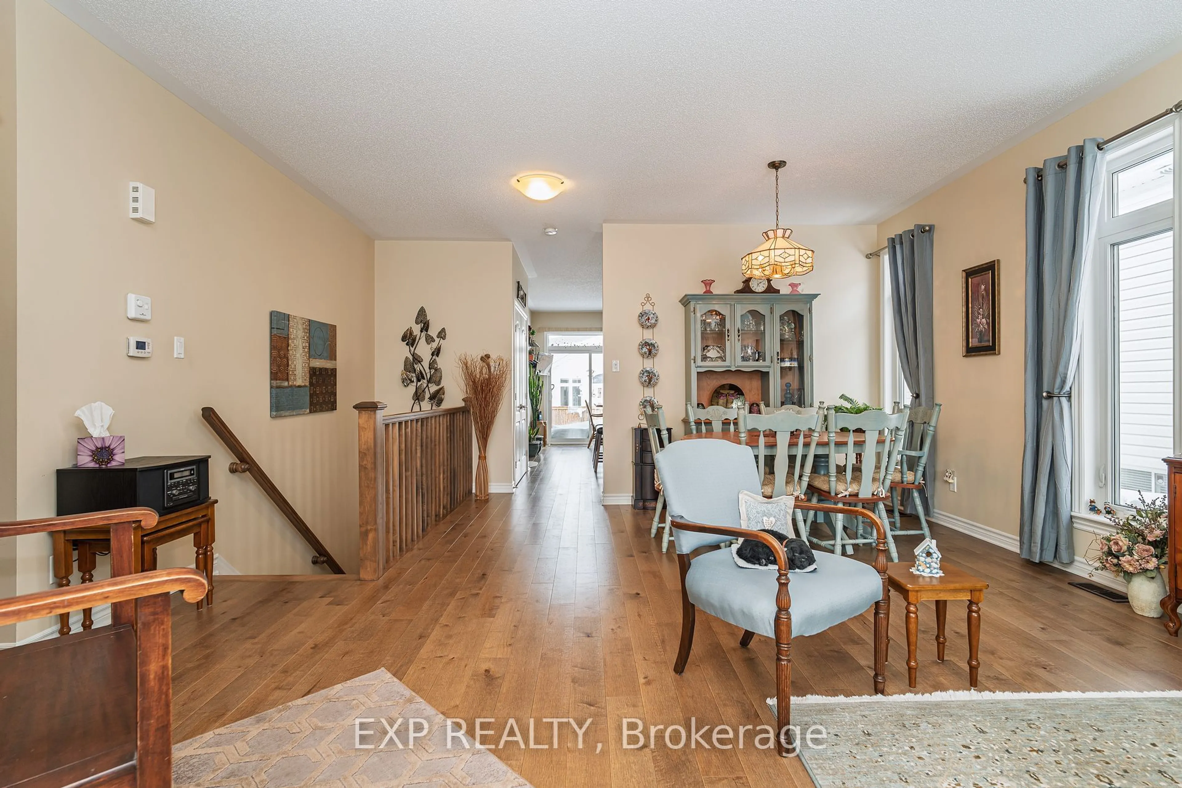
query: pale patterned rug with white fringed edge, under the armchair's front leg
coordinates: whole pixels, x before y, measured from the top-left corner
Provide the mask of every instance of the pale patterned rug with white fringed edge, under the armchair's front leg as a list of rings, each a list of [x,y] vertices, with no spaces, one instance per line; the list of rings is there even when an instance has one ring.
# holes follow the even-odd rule
[[[1182,786],[1180,712],[1182,692],[792,698],[819,788]],[[807,745],[814,725],[823,748]]]

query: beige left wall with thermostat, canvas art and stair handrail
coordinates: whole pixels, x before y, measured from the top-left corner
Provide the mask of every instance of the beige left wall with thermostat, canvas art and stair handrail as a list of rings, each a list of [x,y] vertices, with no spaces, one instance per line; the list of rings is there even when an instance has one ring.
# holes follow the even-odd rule
[[[232,565],[317,572],[254,483],[227,473],[200,416],[212,405],[356,571],[350,405],[374,390],[372,240],[41,0],[18,0],[17,22],[17,514],[54,513],[53,470],[85,435],[73,412],[102,399],[131,455],[213,455],[216,552]],[[155,224],[126,217],[129,181],[156,189]],[[125,318],[129,292],[152,298],[150,323]],[[271,310],[337,325],[336,412],[269,418]],[[129,334],[154,357],[128,358]],[[180,545],[163,565],[191,562]],[[44,588],[48,538],[19,551],[19,591]]]

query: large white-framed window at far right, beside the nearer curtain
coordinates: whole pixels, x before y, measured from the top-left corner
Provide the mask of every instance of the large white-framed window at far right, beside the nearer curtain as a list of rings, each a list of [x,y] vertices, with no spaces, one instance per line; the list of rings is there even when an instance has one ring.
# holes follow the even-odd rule
[[[1084,302],[1074,509],[1164,493],[1178,423],[1173,121],[1106,149],[1104,202]]]

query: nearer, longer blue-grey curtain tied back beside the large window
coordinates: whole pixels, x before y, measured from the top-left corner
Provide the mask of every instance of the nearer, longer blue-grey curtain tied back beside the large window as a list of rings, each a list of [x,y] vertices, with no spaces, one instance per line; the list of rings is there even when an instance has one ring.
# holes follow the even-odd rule
[[[1086,139],[1067,149],[1066,156],[1026,170],[1026,434],[1019,540],[1022,558],[1031,561],[1076,558],[1070,395],[1079,362],[1085,273],[1103,195],[1097,143]]]

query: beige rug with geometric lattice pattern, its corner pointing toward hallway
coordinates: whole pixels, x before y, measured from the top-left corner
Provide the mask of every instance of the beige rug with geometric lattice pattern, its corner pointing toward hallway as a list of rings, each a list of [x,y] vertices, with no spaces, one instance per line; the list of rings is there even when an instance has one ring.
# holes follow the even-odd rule
[[[420,719],[424,722],[411,725]],[[415,736],[408,735],[411,730]],[[530,783],[467,736],[448,731],[443,715],[385,670],[376,670],[175,745],[173,786],[528,788]]]

